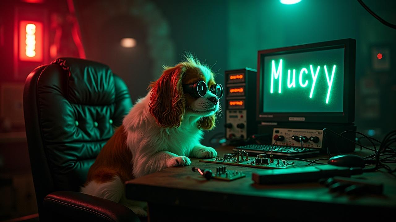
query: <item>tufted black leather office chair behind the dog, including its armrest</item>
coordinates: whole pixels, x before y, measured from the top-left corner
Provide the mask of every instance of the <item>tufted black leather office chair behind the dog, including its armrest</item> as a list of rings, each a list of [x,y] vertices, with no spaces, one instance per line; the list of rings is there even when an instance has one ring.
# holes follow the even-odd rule
[[[139,221],[121,204],[79,193],[131,107],[124,81],[104,64],[59,58],[29,74],[23,109],[40,221]]]

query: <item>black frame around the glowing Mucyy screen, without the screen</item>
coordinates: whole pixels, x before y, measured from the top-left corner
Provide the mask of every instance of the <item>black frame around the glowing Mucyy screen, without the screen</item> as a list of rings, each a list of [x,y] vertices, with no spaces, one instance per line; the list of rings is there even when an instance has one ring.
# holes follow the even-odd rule
[[[343,112],[312,112],[312,113],[264,113],[263,110],[263,79],[261,60],[265,56],[282,55],[287,52],[299,53],[320,51],[326,49],[344,49],[344,96]],[[263,56],[264,55],[264,56]],[[355,120],[355,62],[356,40],[342,39],[324,41],[304,45],[294,45],[276,49],[266,49],[257,53],[257,120],[262,122],[324,122],[324,123],[351,123]]]

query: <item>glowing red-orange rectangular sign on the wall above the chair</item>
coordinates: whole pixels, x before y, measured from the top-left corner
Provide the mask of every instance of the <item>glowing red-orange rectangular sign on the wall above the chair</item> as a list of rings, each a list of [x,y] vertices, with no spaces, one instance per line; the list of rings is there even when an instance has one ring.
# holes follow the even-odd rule
[[[42,62],[43,23],[37,21],[19,22],[19,60]]]

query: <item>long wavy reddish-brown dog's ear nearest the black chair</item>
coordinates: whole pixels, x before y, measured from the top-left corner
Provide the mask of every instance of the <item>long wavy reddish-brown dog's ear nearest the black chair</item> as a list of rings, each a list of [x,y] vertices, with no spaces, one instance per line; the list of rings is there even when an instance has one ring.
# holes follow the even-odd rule
[[[181,85],[182,66],[167,68],[161,77],[152,82],[148,109],[162,128],[177,128],[183,121],[185,98]]]

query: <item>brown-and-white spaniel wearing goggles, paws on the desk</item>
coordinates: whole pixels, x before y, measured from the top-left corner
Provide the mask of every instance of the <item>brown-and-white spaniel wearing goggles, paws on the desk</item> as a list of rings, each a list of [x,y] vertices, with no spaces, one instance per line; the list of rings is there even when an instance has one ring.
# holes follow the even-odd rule
[[[145,203],[126,199],[126,181],[167,167],[188,166],[188,157],[217,156],[200,140],[203,130],[215,126],[223,87],[215,83],[213,71],[190,54],[164,69],[103,147],[81,189],[122,203],[139,216],[147,215]]]

